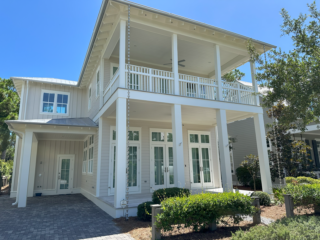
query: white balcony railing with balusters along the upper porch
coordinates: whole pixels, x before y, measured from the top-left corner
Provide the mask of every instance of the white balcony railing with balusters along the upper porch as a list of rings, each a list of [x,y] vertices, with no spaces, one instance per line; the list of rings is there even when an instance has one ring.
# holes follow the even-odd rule
[[[126,65],[125,87],[146,92],[174,94],[174,74],[169,71],[130,65],[128,81],[128,65]],[[104,92],[104,102],[119,87],[119,71],[109,82]],[[211,78],[202,78],[179,74],[179,95],[185,97],[218,100],[218,82]],[[255,105],[254,90],[238,82],[222,82],[222,99],[226,102]]]

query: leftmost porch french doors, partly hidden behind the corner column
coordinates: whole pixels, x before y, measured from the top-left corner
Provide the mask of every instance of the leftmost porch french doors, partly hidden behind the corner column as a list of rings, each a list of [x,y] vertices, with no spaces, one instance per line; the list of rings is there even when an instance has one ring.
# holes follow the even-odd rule
[[[114,189],[116,186],[116,150],[117,146],[112,144],[111,146],[111,161],[112,161],[112,186],[111,186],[111,194],[114,194]],[[140,151],[138,144],[130,144],[129,145],[129,191],[137,192],[139,191],[139,179],[140,179]],[[126,176],[123,176],[124,178]]]

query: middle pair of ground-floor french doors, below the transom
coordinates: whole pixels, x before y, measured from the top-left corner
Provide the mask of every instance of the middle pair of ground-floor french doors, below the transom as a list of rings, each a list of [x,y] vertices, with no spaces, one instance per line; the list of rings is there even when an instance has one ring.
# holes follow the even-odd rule
[[[152,188],[174,187],[173,147],[168,144],[152,146],[151,152]]]

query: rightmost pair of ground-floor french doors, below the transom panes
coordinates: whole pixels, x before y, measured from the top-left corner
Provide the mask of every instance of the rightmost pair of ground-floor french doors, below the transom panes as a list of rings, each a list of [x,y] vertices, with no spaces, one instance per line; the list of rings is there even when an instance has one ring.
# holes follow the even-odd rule
[[[191,157],[191,187],[212,187],[212,159],[211,149],[206,146],[190,147]]]

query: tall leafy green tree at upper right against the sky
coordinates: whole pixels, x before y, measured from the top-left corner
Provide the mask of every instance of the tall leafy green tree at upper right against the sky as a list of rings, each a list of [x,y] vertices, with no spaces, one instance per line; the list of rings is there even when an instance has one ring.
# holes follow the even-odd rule
[[[320,117],[320,12],[315,2],[308,8],[308,15],[300,14],[296,19],[281,10],[282,35],[291,37],[292,51],[271,50],[265,61],[248,42],[251,61],[258,63],[256,79],[270,89],[264,106],[271,108],[275,102],[284,102],[279,123],[295,123],[301,130],[311,122],[319,123]]]

